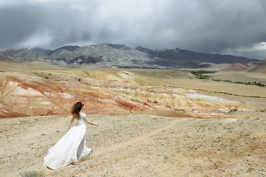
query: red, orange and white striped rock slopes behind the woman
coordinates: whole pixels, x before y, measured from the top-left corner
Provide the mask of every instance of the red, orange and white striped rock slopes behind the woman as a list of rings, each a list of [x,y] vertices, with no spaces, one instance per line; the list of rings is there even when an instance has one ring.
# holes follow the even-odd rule
[[[130,111],[175,109],[197,116],[193,111],[248,109],[238,101],[189,89],[165,89],[75,75],[53,81],[19,72],[5,72],[0,75],[0,83],[0,118],[69,114],[70,106],[77,101],[84,103],[85,112],[108,108]]]

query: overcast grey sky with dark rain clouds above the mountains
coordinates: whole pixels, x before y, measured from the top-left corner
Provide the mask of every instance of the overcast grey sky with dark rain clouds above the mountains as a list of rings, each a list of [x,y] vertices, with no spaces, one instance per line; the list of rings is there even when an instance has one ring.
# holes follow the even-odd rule
[[[98,43],[266,57],[265,0],[0,0],[0,50]]]

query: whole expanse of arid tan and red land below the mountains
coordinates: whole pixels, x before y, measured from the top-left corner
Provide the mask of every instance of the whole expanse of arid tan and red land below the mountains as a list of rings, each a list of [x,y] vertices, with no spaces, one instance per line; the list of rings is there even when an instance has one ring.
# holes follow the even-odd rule
[[[0,176],[265,176],[265,73],[0,63]],[[66,132],[69,108],[83,112],[86,145],[77,164],[43,168],[47,149]],[[75,124],[75,122],[74,122]]]

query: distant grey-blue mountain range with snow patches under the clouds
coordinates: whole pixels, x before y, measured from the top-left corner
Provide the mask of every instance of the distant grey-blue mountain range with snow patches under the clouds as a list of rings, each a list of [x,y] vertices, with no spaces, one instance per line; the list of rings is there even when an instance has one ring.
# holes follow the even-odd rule
[[[103,43],[88,46],[67,45],[55,50],[29,47],[8,49],[0,54],[16,60],[44,61],[54,65],[92,65],[103,68],[193,68],[199,63],[249,63],[261,60],[233,55],[205,54],[180,48],[151,50],[141,46]]]

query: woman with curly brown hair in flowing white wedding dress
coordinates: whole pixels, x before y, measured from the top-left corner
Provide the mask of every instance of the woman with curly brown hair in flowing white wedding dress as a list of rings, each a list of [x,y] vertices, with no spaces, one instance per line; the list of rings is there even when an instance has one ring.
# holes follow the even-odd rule
[[[86,114],[80,112],[84,104],[77,102],[71,108],[73,115],[67,133],[51,148],[44,157],[43,167],[51,169],[62,168],[70,163],[75,164],[79,158],[91,152],[85,144],[86,122],[91,125],[98,124],[88,121]],[[72,123],[77,119],[77,123],[72,127]]]

